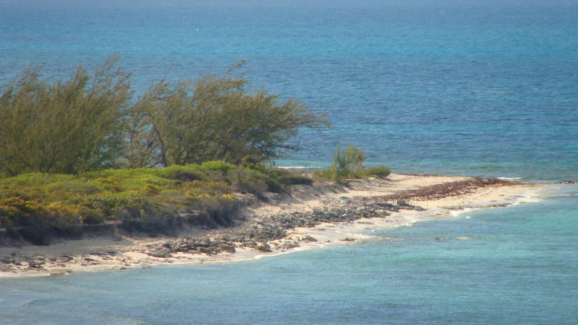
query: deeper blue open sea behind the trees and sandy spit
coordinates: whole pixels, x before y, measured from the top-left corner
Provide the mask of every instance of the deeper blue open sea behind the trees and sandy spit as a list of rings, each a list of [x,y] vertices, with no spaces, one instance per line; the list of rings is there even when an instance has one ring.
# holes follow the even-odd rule
[[[571,0],[0,2],[2,81],[117,52],[142,90],[246,59],[334,125],[281,166],[327,165],[341,139],[395,172],[578,179],[577,50]]]

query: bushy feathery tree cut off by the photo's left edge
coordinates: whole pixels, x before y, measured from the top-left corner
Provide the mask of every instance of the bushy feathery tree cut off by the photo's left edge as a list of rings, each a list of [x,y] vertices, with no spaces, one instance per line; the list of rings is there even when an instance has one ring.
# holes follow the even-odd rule
[[[124,147],[121,115],[132,92],[112,55],[91,78],[78,67],[51,82],[28,68],[0,97],[0,175],[79,173],[114,167]]]

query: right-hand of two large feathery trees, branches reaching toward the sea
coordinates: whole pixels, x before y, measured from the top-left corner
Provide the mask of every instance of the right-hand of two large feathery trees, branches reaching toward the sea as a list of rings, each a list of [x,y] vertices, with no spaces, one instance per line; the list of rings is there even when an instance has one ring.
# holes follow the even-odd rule
[[[307,143],[301,128],[328,126],[295,99],[247,87],[243,75],[199,75],[171,84],[160,80],[138,98],[128,125],[129,167],[184,165],[210,160],[239,164],[244,157],[268,161]]]

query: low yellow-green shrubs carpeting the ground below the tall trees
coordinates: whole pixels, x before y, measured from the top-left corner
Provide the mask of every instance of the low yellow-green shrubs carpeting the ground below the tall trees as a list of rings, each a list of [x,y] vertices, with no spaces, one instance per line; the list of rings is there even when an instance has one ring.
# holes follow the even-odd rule
[[[79,176],[36,172],[0,179],[0,227],[147,223],[193,211],[233,213],[233,193],[280,193],[291,184],[312,183],[301,174],[258,162],[244,165],[208,161],[162,169],[105,169]]]

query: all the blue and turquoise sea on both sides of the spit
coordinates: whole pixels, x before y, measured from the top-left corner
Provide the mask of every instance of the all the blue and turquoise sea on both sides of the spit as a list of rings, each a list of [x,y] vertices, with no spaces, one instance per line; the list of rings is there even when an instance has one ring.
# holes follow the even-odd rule
[[[110,53],[136,91],[246,60],[255,88],[327,113],[277,166],[341,141],[398,173],[578,180],[575,1],[0,2],[0,83]],[[261,260],[2,279],[0,323],[576,324],[573,193]]]

